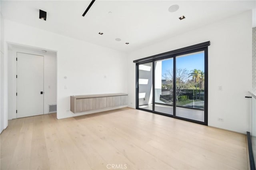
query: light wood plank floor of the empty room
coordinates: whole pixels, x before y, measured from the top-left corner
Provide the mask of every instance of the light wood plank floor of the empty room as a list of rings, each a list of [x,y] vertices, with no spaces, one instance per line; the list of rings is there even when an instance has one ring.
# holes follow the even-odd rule
[[[9,121],[1,170],[247,170],[245,135],[135,109]]]

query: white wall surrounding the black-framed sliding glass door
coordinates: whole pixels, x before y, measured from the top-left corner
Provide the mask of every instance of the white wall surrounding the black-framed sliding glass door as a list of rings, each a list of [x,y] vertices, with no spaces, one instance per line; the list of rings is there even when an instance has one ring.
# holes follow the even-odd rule
[[[226,18],[129,54],[128,104],[135,108],[135,59],[197,43],[208,47],[208,125],[246,133],[252,89],[252,12]],[[222,86],[222,90],[218,90]],[[223,122],[217,118],[224,119]]]

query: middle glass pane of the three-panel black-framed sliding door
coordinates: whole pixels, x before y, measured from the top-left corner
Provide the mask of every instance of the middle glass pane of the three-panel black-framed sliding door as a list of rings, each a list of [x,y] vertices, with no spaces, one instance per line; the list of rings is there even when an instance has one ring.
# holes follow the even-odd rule
[[[155,61],[155,111],[173,115],[173,59]]]

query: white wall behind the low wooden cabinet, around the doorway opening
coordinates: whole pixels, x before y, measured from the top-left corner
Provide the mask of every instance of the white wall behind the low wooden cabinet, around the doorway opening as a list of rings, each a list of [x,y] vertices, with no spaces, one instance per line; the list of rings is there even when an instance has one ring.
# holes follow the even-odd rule
[[[58,119],[84,114],[70,111],[70,95],[127,93],[126,53],[10,20],[4,29],[6,42],[57,51]]]

